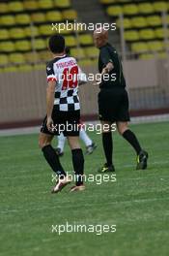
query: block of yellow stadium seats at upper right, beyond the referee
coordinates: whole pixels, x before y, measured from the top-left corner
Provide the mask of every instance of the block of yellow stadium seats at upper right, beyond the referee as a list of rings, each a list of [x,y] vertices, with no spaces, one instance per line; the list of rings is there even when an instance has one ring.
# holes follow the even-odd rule
[[[110,20],[116,21],[118,28],[124,26],[127,47],[132,53],[137,53],[141,59],[153,58],[155,52],[159,58],[166,57],[166,53],[163,52],[166,48],[164,46],[166,31],[163,27],[162,12],[167,14],[168,1],[99,0],[99,2]],[[169,15],[166,15],[166,24],[169,24]],[[169,29],[167,34],[169,35]]]

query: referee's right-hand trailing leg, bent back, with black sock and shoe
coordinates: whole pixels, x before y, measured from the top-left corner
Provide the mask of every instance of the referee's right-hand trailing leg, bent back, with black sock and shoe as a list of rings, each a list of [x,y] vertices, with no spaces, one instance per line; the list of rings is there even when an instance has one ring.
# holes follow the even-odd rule
[[[146,169],[148,153],[142,149],[135,134],[128,128],[127,122],[117,122],[118,132],[132,145],[137,154],[137,166],[136,169]]]

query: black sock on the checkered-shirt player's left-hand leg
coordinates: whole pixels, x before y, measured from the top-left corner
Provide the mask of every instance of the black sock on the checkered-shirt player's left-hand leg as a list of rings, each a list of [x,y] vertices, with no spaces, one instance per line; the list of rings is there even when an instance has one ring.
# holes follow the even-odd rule
[[[59,156],[56,154],[54,148],[50,144],[43,146],[42,152],[49,166],[58,176],[60,176],[60,178],[67,176],[59,161]]]

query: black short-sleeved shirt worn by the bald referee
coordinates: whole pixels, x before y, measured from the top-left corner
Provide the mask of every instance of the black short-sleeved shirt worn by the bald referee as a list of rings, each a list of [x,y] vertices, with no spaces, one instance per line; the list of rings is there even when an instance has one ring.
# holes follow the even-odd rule
[[[114,87],[121,86],[123,88],[126,87],[126,80],[123,74],[123,67],[120,57],[116,51],[116,48],[113,48],[110,44],[106,44],[105,46],[99,48],[99,73],[102,72],[102,69],[107,65],[107,63],[112,62],[114,69],[109,73],[109,78],[107,80],[102,79],[99,83],[100,89],[113,89]],[[112,74],[116,74],[116,80],[113,80],[114,77]]]

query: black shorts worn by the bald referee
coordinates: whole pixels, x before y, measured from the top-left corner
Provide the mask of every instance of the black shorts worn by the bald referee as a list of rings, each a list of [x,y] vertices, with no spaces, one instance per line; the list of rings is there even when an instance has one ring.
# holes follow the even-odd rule
[[[128,96],[125,88],[101,89],[99,91],[99,120],[129,121]]]

